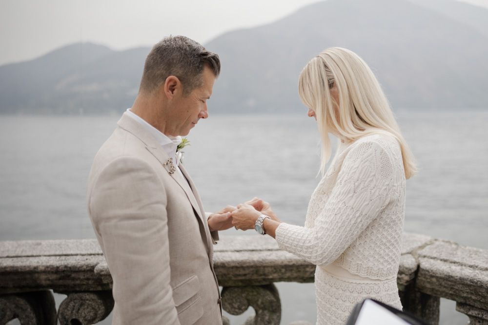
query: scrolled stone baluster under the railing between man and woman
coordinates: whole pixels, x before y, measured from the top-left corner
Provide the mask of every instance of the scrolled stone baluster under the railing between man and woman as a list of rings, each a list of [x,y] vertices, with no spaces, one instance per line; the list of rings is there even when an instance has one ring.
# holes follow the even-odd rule
[[[222,307],[231,315],[240,315],[252,306],[256,316],[249,316],[245,325],[279,325],[281,301],[274,284],[249,287],[224,287]]]

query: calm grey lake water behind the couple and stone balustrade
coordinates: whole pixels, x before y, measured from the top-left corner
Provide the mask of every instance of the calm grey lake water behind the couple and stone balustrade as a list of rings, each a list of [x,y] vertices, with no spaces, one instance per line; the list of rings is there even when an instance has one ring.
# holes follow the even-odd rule
[[[119,117],[0,116],[0,240],[95,238],[85,208],[86,179]],[[488,112],[404,111],[397,118],[420,168],[407,181],[405,230],[488,249]],[[305,111],[211,115],[187,138],[185,166],[205,210],[259,196],[283,221],[304,224],[320,180],[319,134]],[[277,286],[282,324],[315,322],[313,284]],[[249,314],[232,316],[231,324]],[[442,325],[468,320],[444,299],[441,318]]]

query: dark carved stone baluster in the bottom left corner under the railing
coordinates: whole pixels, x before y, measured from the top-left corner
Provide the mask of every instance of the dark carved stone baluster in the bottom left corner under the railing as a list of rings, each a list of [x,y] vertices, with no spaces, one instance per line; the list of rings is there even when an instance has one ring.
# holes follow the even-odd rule
[[[43,290],[0,296],[0,325],[16,318],[22,325],[56,325],[53,293]]]

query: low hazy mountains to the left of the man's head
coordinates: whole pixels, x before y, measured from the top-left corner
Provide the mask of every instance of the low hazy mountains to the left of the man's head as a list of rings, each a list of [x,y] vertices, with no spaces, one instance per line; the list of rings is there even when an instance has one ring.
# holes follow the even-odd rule
[[[79,114],[132,106],[150,48],[72,44],[0,67],[0,113]]]

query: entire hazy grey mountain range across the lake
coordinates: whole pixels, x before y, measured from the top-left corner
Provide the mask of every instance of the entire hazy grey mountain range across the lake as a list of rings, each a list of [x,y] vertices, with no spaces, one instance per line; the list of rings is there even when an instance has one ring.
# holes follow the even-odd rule
[[[422,6],[417,1],[327,0],[276,22],[215,38],[205,44],[222,60],[211,112],[303,109],[297,91],[300,71],[331,46],[363,57],[394,108],[488,107],[488,36],[460,22],[479,12],[488,18],[488,10],[445,1],[444,11],[434,11],[426,4],[440,0]],[[449,18],[459,8],[465,8],[463,15]],[[135,99],[149,51],[74,44],[1,66],[0,113],[122,112]]]

